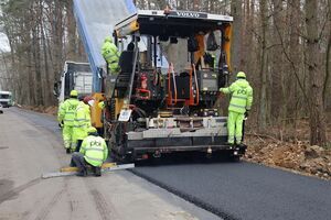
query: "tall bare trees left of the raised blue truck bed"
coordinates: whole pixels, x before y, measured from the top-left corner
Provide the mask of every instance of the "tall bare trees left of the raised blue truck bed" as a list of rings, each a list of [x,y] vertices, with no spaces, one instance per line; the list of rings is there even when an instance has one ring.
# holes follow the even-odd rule
[[[11,46],[7,55],[11,61],[9,66],[17,73],[17,80],[24,81],[22,88],[12,89],[22,89],[20,92],[28,96],[24,100],[28,105],[55,101],[50,88],[65,59],[63,48],[67,33],[63,20],[70,2],[8,0],[1,4],[1,21]]]

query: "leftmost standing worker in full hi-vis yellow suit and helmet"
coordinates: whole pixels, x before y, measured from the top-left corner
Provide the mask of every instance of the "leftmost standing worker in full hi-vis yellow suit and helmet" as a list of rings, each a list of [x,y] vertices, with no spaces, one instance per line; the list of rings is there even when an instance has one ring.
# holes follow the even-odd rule
[[[57,112],[57,121],[63,127],[63,142],[67,154],[76,147],[75,143],[73,143],[73,129],[75,111],[79,102],[77,96],[78,92],[76,90],[72,90],[71,98],[60,105]]]

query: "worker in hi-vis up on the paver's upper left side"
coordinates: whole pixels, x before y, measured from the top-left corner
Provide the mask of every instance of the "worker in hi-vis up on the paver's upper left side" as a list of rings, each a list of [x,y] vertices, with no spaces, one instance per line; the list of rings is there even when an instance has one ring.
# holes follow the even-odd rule
[[[118,52],[117,46],[113,43],[113,38],[110,36],[107,36],[105,38],[102,54],[107,62],[108,65],[108,72],[114,75],[119,73],[120,67],[118,65],[120,53]]]

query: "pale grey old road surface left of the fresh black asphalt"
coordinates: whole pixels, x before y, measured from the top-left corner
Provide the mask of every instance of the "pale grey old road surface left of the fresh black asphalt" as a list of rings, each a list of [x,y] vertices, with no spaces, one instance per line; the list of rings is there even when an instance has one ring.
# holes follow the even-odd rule
[[[0,114],[0,219],[214,220],[220,217],[127,170],[41,179],[70,162],[53,117]]]

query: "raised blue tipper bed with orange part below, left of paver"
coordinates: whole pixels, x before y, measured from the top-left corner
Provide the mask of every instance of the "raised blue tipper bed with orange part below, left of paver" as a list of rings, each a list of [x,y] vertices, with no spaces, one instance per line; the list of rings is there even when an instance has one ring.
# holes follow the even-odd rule
[[[73,11],[93,78],[90,95],[95,103],[90,111],[92,124],[104,133],[103,112],[98,102],[105,100],[107,64],[102,55],[102,45],[106,36],[111,36],[115,24],[135,13],[136,7],[131,0],[74,0]]]

